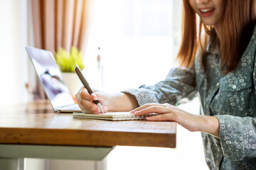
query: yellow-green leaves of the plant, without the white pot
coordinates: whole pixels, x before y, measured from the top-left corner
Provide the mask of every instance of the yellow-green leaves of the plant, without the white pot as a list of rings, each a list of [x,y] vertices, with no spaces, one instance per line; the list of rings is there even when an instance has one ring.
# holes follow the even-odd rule
[[[75,64],[78,64],[80,69],[85,67],[82,63],[82,52],[76,47],[71,47],[70,53],[60,47],[58,52],[54,52],[54,57],[61,72],[75,72]]]

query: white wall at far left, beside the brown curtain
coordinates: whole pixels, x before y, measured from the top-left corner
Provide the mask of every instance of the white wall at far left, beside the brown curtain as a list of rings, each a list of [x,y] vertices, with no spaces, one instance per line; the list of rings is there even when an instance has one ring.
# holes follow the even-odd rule
[[[0,106],[26,102],[26,0],[0,0]]]

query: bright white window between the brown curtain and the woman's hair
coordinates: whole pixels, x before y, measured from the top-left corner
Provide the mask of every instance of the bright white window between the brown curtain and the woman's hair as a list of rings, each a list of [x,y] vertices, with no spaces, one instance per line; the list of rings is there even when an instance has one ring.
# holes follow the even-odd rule
[[[174,4],[96,0],[84,71],[92,86],[117,92],[163,80],[176,58],[173,35],[180,21],[174,23]],[[97,47],[103,71],[97,70]]]

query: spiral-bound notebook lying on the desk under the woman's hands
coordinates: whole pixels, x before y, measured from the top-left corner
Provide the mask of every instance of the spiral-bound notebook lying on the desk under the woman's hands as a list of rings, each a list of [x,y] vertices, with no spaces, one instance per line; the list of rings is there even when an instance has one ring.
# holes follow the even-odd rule
[[[87,113],[73,113],[75,118],[89,118],[100,120],[146,120],[146,117],[157,115],[150,113],[146,115],[134,115],[129,112],[107,112],[100,114],[87,114]]]

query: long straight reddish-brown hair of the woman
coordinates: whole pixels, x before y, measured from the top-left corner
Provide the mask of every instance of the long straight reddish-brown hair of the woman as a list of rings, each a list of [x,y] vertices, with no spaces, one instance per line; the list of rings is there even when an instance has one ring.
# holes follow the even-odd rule
[[[224,0],[223,27],[221,37],[218,38],[220,45],[220,57],[224,73],[235,70],[245,51],[252,30],[255,26],[255,1],[256,0]],[[181,47],[177,59],[181,66],[191,67],[195,60],[196,51],[206,50],[206,40],[212,27],[206,27],[201,21],[196,23],[196,13],[191,8],[188,0],[183,0],[183,22]],[[204,38],[201,38],[204,31]],[[198,33],[197,33],[198,32]],[[201,49],[198,49],[201,47]],[[201,55],[202,57],[204,55]]]

